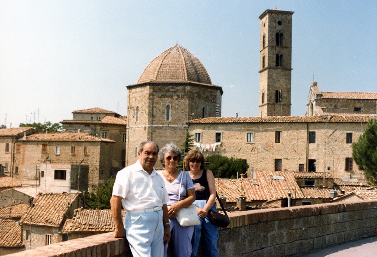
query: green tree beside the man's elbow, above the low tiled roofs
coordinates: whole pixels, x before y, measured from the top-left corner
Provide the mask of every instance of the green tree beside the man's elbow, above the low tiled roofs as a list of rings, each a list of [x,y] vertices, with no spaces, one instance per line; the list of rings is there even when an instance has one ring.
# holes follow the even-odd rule
[[[94,188],[92,192],[84,192],[84,200],[92,209],[111,209],[110,198],[112,196],[112,188],[114,186],[115,178],[111,177],[106,181],[99,183],[98,187]]]

